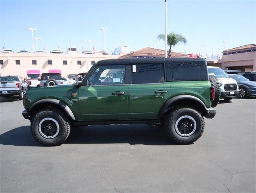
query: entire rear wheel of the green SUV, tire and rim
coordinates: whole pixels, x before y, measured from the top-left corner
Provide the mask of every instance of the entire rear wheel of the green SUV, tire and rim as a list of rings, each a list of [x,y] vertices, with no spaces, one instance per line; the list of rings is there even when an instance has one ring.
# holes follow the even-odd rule
[[[204,118],[192,107],[178,107],[167,114],[165,129],[174,142],[191,144],[204,132]]]

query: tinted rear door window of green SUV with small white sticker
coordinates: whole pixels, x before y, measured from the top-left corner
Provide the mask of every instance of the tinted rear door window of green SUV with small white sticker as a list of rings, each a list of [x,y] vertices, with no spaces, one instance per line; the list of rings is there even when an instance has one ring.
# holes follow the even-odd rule
[[[132,65],[132,84],[164,83],[163,64]]]

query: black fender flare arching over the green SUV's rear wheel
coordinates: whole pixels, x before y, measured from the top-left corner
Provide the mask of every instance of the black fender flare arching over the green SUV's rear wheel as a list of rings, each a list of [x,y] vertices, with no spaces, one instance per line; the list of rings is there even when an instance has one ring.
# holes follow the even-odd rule
[[[191,99],[191,100],[195,100],[197,102],[199,102],[200,104],[202,104],[202,106],[206,109],[206,105],[204,104],[204,102],[202,100],[200,100],[197,97],[194,97],[192,95],[178,95],[176,97],[172,97],[170,99],[168,99],[160,108],[159,112],[158,112],[158,118],[162,118],[162,116],[164,115],[164,113],[166,112],[166,109],[174,102],[178,101],[178,100],[182,100],[182,99]]]

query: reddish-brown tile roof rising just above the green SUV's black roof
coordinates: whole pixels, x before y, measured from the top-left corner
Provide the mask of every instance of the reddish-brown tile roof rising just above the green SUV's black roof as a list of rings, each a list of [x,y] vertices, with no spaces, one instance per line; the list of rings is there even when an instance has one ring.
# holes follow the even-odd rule
[[[142,49],[136,50],[132,53],[121,56],[120,58],[127,58],[130,56],[152,56],[152,57],[164,57],[165,51],[163,49],[156,49],[152,47],[144,47]],[[186,54],[177,53],[172,51],[172,57],[187,57]]]

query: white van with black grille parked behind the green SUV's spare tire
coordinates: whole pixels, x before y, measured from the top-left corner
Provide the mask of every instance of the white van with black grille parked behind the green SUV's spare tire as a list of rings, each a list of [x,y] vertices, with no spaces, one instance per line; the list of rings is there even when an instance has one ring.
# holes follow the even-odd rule
[[[220,82],[220,98],[231,100],[238,96],[239,90],[236,80],[230,78],[228,74],[219,67],[208,66],[208,73],[214,74]]]

